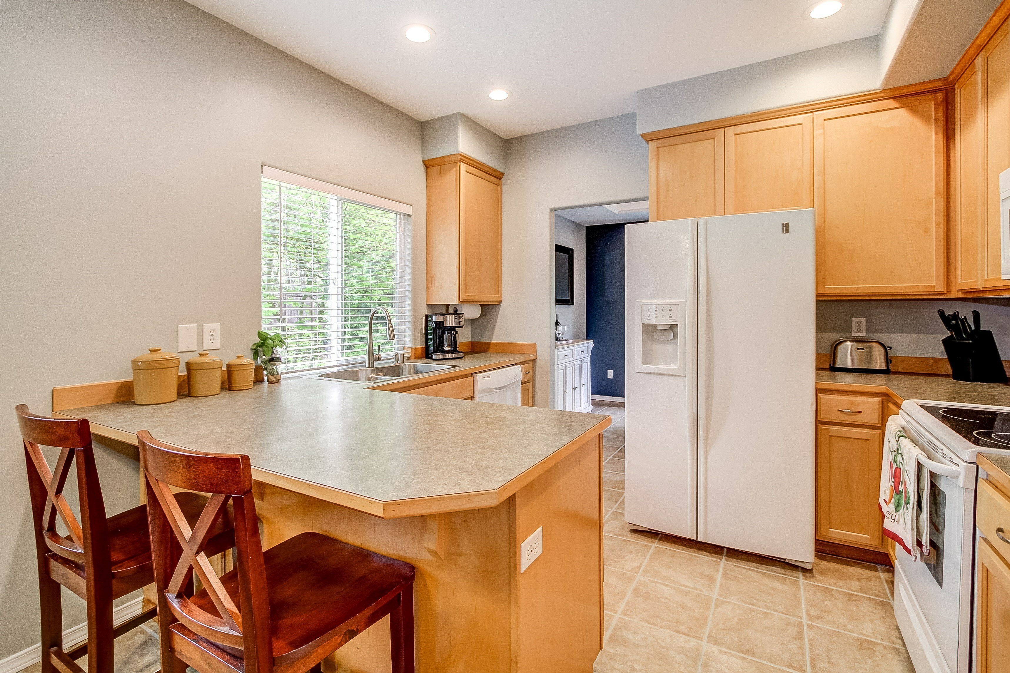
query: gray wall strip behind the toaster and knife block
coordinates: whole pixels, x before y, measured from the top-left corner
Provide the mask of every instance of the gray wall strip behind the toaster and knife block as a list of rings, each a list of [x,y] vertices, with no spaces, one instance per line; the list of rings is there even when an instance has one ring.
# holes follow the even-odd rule
[[[852,318],[866,318],[867,336],[891,346],[892,355],[946,357],[940,339],[947,331],[937,309],[957,311],[969,321],[977,310],[982,328],[993,331],[1000,355],[1010,359],[1010,299],[817,302],[817,352],[827,353],[835,339],[850,336]]]

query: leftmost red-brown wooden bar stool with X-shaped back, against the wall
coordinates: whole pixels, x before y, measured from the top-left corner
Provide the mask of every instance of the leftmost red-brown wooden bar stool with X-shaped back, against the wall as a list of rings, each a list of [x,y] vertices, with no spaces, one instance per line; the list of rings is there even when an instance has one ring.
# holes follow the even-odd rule
[[[152,605],[113,628],[112,601],[155,581],[147,509],[141,504],[105,517],[87,420],[35,416],[25,405],[18,405],[15,411],[24,444],[35,532],[42,673],[83,673],[75,660],[86,654],[90,673],[113,673],[113,641],[156,612]],[[39,445],[60,448],[55,469],[49,469]],[[75,459],[81,522],[63,494]],[[174,501],[187,521],[196,522],[207,498],[198,493],[179,493]],[[57,517],[69,537],[57,531]],[[234,546],[230,529],[229,512],[209,531],[208,552],[220,553]],[[88,602],[88,640],[66,651],[61,584]]]

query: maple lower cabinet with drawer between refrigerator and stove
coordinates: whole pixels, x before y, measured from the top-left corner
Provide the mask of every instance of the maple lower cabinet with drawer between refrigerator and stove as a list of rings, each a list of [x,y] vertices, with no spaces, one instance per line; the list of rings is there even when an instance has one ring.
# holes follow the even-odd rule
[[[817,390],[817,540],[884,552],[880,396]],[[890,409],[890,408],[888,408]],[[842,418],[839,422],[839,416]]]

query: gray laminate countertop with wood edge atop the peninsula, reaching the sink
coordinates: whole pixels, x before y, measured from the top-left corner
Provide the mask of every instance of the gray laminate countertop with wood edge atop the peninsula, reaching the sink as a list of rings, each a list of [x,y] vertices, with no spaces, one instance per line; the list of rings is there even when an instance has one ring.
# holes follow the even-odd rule
[[[474,353],[456,373],[517,357]],[[93,434],[127,444],[147,430],[198,451],[244,453],[258,481],[385,519],[494,507],[610,425],[599,414],[297,375],[166,405],[124,402],[58,414],[86,418]]]

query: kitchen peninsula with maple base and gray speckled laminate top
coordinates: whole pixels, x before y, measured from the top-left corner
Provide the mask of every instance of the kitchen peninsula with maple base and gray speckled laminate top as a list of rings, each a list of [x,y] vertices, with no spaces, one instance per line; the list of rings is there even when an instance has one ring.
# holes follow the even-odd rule
[[[420,671],[591,671],[602,646],[601,433],[610,418],[370,389],[314,377],[87,418],[252,463],[264,547],[316,531],[417,568]],[[104,439],[103,439],[104,438]],[[519,570],[521,543],[543,552]],[[327,660],[389,670],[388,620]],[[341,670],[343,670],[341,668]]]

